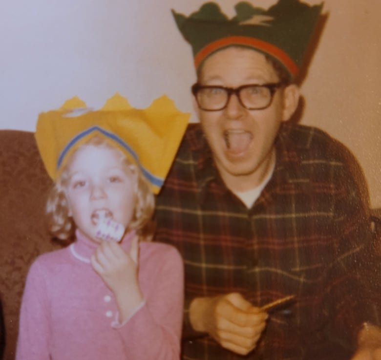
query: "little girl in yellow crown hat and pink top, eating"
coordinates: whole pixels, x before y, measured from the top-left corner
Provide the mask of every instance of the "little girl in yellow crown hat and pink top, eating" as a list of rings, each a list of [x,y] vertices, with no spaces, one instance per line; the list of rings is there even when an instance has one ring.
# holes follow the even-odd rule
[[[146,110],[115,96],[99,111],[42,113],[36,140],[55,181],[52,233],[75,241],[32,264],[17,360],[179,359],[183,265],[146,237],[188,115],[162,97]]]

